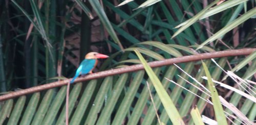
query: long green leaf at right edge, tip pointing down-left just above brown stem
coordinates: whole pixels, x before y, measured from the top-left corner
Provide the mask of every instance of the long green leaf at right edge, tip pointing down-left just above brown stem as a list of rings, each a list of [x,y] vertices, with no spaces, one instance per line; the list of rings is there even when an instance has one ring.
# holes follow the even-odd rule
[[[204,45],[206,45],[206,44],[220,38],[221,36],[225,35],[227,32],[229,32],[230,30],[239,26],[239,24],[245,22],[247,19],[251,18],[254,15],[256,15],[256,7],[252,8],[250,11],[246,12],[245,14],[243,14],[242,16],[237,18],[236,20],[227,24],[227,26],[225,26],[224,28],[219,30],[217,33],[212,35],[210,38],[208,38],[206,41],[204,41],[202,44],[200,44],[199,47],[196,50],[202,48]]]

